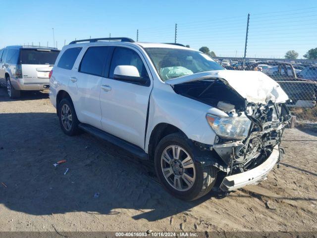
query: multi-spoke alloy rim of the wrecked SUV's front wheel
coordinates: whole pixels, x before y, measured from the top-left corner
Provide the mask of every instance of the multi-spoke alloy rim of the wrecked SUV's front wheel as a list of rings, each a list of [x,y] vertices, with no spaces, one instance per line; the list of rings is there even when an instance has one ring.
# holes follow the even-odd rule
[[[161,155],[164,178],[178,191],[189,190],[195,182],[196,169],[189,153],[178,145],[167,146]]]

